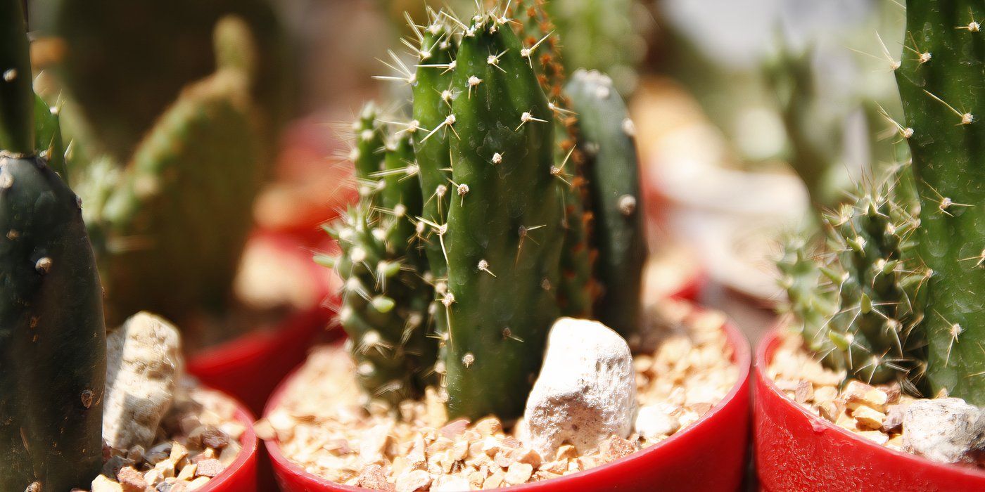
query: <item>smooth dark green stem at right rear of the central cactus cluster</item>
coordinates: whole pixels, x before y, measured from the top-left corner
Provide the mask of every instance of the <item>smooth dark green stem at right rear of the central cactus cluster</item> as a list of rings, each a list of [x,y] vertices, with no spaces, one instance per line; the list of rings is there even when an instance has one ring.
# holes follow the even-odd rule
[[[595,277],[602,287],[595,314],[628,339],[639,328],[647,255],[635,129],[607,76],[575,72],[566,92],[578,115],[578,146],[588,161],[585,173],[595,217],[592,246],[599,252]]]

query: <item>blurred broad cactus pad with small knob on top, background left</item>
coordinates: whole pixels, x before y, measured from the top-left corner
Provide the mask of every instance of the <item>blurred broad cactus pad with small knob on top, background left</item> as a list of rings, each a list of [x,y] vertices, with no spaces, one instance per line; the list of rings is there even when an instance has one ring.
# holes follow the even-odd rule
[[[216,72],[181,92],[127,165],[102,156],[73,169],[110,323],[141,309],[188,320],[229,303],[251,204],[270,166],[263,113],[250,94],[250,38],[241,20],[221,20]]]

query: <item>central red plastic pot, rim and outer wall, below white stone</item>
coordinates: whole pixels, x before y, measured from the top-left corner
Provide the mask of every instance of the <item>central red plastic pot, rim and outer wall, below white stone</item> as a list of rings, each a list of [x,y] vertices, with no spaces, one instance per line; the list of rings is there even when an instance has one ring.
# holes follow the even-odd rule
[[[749,437],[749,375],[752,350],[749,341],[731,325],[725,325],[732,345],[739,381],[731,392],[698,421],[667,440],[601,466],[563,477],[509,487],[518,492],[568,492],[593,490],[662,490],[721,492],[738,490],[746,469]],[[267,403],[277,406],[288,378]],[[276,440],[264,442],[274,473],[285,492],[357,492],[364,489],[340,485],[314,476],[281,453]]]

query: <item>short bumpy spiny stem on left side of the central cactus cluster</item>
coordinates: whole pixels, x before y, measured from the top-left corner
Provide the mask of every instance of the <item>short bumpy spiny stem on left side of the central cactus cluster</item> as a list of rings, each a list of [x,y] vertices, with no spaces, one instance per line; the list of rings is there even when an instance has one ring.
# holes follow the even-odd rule
[[[427,339],[427,306],[415,217],[421,214],[411,132],[390,136],[373,105],[354,125],[361,200],[329,227],[342,249],[316,261],[344,280],[339,319],[350,337],[360,383],[373,398],[419,397],[433,374],[436,344]]]

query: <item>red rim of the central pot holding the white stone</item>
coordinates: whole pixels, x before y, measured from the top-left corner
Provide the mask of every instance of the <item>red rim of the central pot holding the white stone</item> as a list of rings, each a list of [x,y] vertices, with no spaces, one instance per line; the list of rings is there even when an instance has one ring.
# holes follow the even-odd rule
[[[558,478],[552,478],[549,480],[543,480],[534,483],[527,483],[523,485],[514,485],[510,487],[505,487],[508,490],[525,491],[525,492],[544,492],[547,490],[557,490],[555,487],[562,485],[566,481],[577,480],[580,477],[592,475],[592,474],[604,474],[609,473],[611,470],[622,467],[627,463],[639,460],[645,460],[651,455],[660,455],[664,453],[672,453],[673,449],[679,446],[679,443],[686,443],[688,441],[689,431],[700,426],[702,423],[715,420],[718,418],[719,413],[725,408],[729,402],[735,400],[740,396],[740,392],[743,389],[748,389],[748,382],[751,367],[752,367],[752,357],[753,350],[750,347],[749,340],[741,333],[739,330],[733,326],[731,321],[726,321],[722,325],[722,330],[725,331],[726,337],[729,344],[732,346],[733,355],[732,359],[735,364],[739,367],[739,375],[736,379],[735,385],[729,390],[729,393],[721,401],[715,404],[710,410],[708,410],[704,415],[698,418],[696,421],[691,423],[685,430],[674,434],[673,436],[661,441],[658,444],[650,446],[649,448],[637,451],[632,455],[624,457],[620,460],[610,461],[605,464],[601,464],[591,469],[585,471],[579,471],[577,473],[572,473],[569,475],[560,476]],[[301,364],[303,366],[303,363]],[[287,378],[274,390],[271,395],[270,400],[267,401],[264,407],[263,414],[266,417],[271,413],[271,411],[277,406],[280,400],[284,396],[284,392],[287,390],[289,383],[295,378],[297,372],[301,369],[298,366]],[[351,485],[344,485],[340,483],[327,480],[325,478],[319,477],[312,473],[308,473],[300,465],[296,464],[294,461],[288,460],[283,453],[281,453],[281,447],[277,443],[276,439],[269,439],[263,441],[264,446],[267,449],[267,453],[270,456],[271,461],[274,464],[275,469],[286,471],[292,475],[302,476],[308,482],[317,484],[325,488],[325,490],[339,490],[347,492],[361,492],[366,489],[360,487],[353,487]]]

